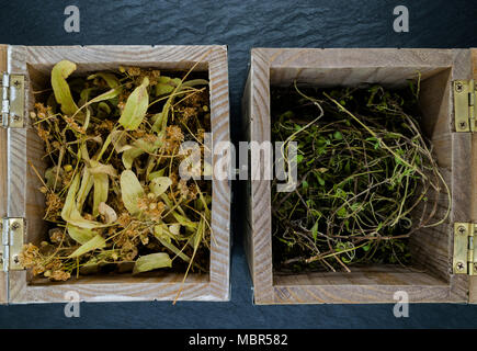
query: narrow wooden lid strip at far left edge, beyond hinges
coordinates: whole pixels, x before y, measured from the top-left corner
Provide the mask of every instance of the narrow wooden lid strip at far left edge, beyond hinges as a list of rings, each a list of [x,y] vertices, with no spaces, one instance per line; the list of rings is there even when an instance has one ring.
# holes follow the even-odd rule
[[[0,45],[0,72],[7,70],[7,45]],[[7,129],[0,127],[0,218],[7,216]],[[1,230],[0,230],[1,237]],[[1,245],[1,242],[0,242]],[[0,270],[0,304],[8,302],[8,274]]]

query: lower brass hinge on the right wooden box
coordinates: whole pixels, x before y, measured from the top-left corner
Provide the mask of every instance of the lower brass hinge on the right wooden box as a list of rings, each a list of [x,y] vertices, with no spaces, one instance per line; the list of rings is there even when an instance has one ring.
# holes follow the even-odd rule
[[[477,224],[474,223],[454,224],[454,274],[477,275],[476,227]]]

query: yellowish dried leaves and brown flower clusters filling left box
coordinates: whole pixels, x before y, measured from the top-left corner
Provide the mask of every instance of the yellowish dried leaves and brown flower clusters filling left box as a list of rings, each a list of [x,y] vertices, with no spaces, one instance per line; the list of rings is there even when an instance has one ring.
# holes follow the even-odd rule
[[[208,81],[137,67],[73,77],[76,68],[58,63],[52,89],[35,94],[31,120],[48,166],[34,170],[49,235],[26,245],[21,263],[53,281],[205,271],[212,184],[180,179],[179,165],[189,156],[181,143],[204,147],[211,129]]]

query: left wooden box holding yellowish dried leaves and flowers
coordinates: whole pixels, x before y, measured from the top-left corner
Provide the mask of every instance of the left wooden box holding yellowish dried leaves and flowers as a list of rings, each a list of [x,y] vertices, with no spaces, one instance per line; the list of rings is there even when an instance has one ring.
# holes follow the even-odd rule
[[[10,268],[0,272],[0,302],[65,302],[68,298],[65,294],[70,291],[87,302],[172,301],[181,286],[181,273],[158,273],[148,278],[91,275],[65,283],[38,284],[27,271],[14,269],[15,250],[23,242],[35,242],[46,235],[42,219],[44,196],[38,192],[38,179],[27,163],[31,161],[38,170],[44,169],[41,160],[44,150],[27,116],[34,104],[33,87],[49,79],[52,67],[63,59],[76,63],[77,73],[117,69],[120,65],[184,70],[198,61],[195,70],[207,72],[209,79],[213,141],[229,140],[226,46],[0,46],[0,70],[10,77],[24,77],[25,89],[24,113],[14,117],[12,101],[19,99],[12,90],[15,83],[10,79],[11,118],[7,123],[10,126],[0,128],[0,216],[21,218],[20,226],[24,225],[23,237],[19,238],[11,233],[12,226],[7,228],[3,220],[3,261],[9,260]],[[24,126],[18,127],[19,123]],[[229,299],[230,188],[227,181],[213,180],[212,231],[208,273],[190,274],[179,299]],[[5,256],[7,250],[10,259]]]

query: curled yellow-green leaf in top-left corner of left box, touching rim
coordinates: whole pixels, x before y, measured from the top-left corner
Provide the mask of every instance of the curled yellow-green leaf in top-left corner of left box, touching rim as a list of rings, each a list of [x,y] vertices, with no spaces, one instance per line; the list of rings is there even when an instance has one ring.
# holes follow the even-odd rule
[[[71,97],[66,79],[76,70],[76,65],[68,60],[61,60],[52,69],[52,88],[56,102],[61,105],[65,114],[72,115],[78,111],[78,106]]]

